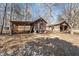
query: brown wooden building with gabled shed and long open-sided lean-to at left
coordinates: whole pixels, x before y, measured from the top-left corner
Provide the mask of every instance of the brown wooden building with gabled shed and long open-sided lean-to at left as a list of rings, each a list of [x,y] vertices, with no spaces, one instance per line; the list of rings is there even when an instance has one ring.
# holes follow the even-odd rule
[[[19,26],[28,26],[31,33],[43,33],[46,30],[46,24],[47,22],[41,17],[35,21],[10,21],[10,34],[18,32]]]

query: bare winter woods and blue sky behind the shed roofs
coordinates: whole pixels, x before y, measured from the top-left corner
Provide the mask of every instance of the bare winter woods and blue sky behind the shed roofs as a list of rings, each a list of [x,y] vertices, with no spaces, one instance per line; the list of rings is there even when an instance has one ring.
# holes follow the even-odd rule
[[[65,20],[71,28],[79,29],[79,4],[76,3],[25,3],[0,4],[1,34],[4,28],[9,28],[11,20],[35,21],[42,17],[48,24]]]

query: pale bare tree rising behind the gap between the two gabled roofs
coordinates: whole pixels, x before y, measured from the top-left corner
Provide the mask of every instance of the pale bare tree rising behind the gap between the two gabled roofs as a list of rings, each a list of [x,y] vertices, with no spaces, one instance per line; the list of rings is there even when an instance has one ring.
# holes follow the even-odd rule
[[[49,23],[51,23],[51,20],[54,20],[53,17],[53,12],[54,12],[54,7],[56,7],[58,4],[56,3],[45,3],[44,7],[45,7],[45,18],[47,19],[47,21]]]

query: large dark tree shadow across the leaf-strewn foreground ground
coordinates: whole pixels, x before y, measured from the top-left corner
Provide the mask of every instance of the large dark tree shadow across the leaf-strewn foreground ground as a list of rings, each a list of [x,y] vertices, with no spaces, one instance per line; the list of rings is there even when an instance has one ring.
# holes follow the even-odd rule
[[[11,56],[78,56],[79,47],[72,43],[55,38],[36,38],[31,42],[27,42],[16,50],[5,55]]]

